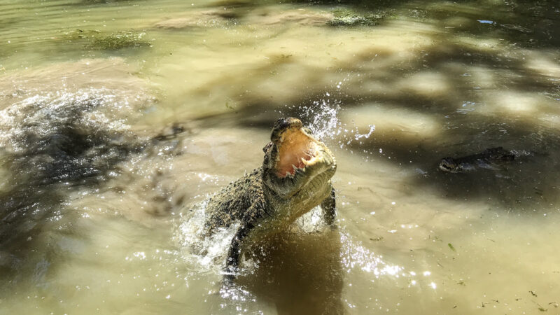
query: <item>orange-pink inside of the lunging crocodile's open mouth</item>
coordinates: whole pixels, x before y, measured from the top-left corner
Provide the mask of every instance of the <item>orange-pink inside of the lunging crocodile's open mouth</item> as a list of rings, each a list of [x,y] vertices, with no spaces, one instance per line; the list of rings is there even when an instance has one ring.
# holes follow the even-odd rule
[[[294,175],[297,169],[313,165],[319,154],[316,140],[300,128],[290,128],[283,132],[278,150],[276,174],[279,177]]]

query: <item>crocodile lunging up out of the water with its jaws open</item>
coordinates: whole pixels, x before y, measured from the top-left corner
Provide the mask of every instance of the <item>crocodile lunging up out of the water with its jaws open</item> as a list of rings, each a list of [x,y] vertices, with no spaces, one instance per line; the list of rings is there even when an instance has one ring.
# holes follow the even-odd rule
[[[239,224],[231,240],[226,272],[239,264],[244,244],[285,230],[321,204],[325,222],[334,226],[335,190],[330,178],[336,160],[297,118],[276,120],[262,167],[230,183],[207,204],[208,235]]]

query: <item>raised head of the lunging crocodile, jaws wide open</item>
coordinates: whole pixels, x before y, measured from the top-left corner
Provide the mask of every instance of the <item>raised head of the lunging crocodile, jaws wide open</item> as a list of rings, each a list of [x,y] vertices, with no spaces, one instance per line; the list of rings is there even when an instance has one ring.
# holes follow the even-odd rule
[[[277,195],[312,195],[329,185],[337,167],[335,157],[299,119],[276,120],[270,140],[263,148],[262,176]]]

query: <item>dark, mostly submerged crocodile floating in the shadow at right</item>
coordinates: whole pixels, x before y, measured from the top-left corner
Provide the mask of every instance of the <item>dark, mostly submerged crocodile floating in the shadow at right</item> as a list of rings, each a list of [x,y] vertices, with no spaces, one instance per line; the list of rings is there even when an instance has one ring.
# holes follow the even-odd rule
[[[469,172],[477,167],[484,169],[493,169],[494,165],[503,162],[509,162],[515,159],[510,151],[504,150],[501,146],[498,148],[489,148],[482,153],[468,155],[463,158],[444,158],[440,162],[438,168],[442,172],[463,173]]]

